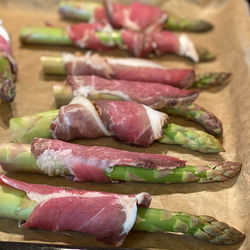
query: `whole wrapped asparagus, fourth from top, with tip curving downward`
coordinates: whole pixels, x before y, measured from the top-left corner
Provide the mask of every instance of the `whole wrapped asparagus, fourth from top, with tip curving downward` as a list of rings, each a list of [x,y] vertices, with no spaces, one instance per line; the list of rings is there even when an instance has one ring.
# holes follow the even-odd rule
[[[74,96],[92,100],[134,101],[169,114],[196,121],[209,133],[221,136],[221,121],[212,113],[191,104],[197,92],[180,90],[168,85],[124,80],[107,80],[97,76],[68,76],[66,84],[53,87],[57,107],[67,105]]]

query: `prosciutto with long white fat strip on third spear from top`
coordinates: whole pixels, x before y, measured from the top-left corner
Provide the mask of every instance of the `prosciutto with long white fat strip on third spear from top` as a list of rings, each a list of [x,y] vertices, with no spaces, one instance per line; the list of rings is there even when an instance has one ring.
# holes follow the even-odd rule
[[[167,69],[142,59],[109,58],[87,53],[84,56],[63,54],[68,75],[97,75],[128,81],[155,82],[187,88],[195,80],[193,69]]]

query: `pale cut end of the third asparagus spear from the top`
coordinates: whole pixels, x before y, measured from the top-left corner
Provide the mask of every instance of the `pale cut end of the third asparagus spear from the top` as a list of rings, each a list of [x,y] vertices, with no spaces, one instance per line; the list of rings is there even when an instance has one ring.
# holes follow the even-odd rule
[[[66,75],[62,56],[41,56],[44,74]]]

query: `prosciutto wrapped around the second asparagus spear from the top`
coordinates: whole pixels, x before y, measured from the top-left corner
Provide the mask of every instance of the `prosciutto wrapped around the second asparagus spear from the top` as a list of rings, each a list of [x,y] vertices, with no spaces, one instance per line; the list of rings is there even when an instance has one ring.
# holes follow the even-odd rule
[[[102,42],[97,36],[96,32],[106,32],[108,28],[110,27],[101,23],[79,23],[68,28],[68,35],[72,42],[80,48],[102,51],[115,48],[112,39],[109,42]],[[109,35],[111,36],[112,34],[110,33]],[[189,57],[194,62],[199,61],[198,52],[193,42],[185,34],[177,36],[169,31],[135,32],[124,29],[121,30],[121,38],[121,48],[127,48],[136,57],[144,57],[151,52],[158,55],[174,53]]]

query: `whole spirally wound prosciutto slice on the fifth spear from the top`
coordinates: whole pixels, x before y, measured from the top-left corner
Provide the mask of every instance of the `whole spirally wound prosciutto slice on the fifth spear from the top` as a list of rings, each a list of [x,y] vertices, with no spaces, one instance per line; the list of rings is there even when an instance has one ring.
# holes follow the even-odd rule
[[[147,106],[124,101],[96,101],[77,96],[59,110],[52,121],[53,138],[69,141],[77,138],[112,136],[138,146],[149,146],[162,137],[168,116]],[[90,129],[86,129],[86,127]]]

